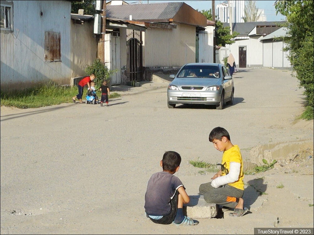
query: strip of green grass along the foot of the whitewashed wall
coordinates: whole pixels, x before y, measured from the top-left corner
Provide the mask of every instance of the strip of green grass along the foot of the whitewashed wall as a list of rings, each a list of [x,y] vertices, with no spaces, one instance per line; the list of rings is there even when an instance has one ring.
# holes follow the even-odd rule
[[[84,92],[86,94],[86,89]],[[39,85],[24,90],[1,91],[1,105],[13,106],[17,108],[38,108],[62,103],[72,103],[72,97],[77,95],[77,86],[67,87],[59,86],[53,82]],[[98,98],[101,93],[97,93]],[[120,95],[112,93],[110,98],[116,98]],[[83,95],[84,99],[85,95]]]

